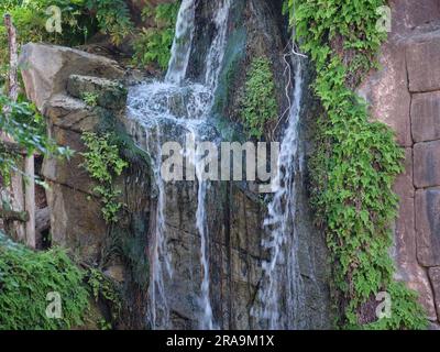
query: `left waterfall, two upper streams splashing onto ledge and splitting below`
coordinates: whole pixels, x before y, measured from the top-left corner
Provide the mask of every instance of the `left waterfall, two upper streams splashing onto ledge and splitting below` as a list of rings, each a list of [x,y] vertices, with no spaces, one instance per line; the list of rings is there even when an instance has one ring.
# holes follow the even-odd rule
[[[156,184],[157,209],[154,234],[151,239],[151,283],[148,288],[150,315],[148,323],[153,329],[172,328],[169,302],[165,292],[166,282],[173,278],[172,257],[167,248],[166,234],[166,185],[161,174],[162,144],[169,141],[183,143],[182,136],[190,135],[195,142],[206,139],[211,130],[207,123],[221,69],[227,42],[228,15],[231,0],[218,1],[216,18],[216,35],[205,62],[205,81],[200,84],[185,82],[195,31],[196,0],[184,0],[178,13],[176,37],[173,44],[172,58],[165,82],[143,82],[129,91],[128,114],[141,125],[145,135],[139,136],[132,131],[140,147],[153,158],[154,179]],[[204,151],[201,151],[204,152]],[[208,184],[204,179],[205,163],[199,151],[188,153],[198,180],[198,204],[195,223],[200,235],[200,265],[202,279],[200,285],[201,329],[213,329],[212,307],[210,302],[209,277],[209,233],[206,220],[206,195]]]

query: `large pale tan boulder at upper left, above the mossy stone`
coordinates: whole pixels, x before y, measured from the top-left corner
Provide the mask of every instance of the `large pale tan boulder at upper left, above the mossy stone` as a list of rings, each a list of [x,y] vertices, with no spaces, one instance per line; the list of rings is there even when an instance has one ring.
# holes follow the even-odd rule
[[[66,92],[72,74],[120,79],[124,72],[117,62],[81,51],[30,43],[22,47],[19,65],[28,98],[45,113],[47,101]]]

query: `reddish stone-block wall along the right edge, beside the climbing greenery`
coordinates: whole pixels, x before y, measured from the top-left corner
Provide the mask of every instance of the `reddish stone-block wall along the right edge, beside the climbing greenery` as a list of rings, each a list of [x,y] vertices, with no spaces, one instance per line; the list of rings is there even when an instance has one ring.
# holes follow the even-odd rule
[[[398,278],[419,293],[435,322],[440,321],[440,3],[395,0],[389,6],[393,30],[383,45],[383,69],[372,74],[360,92],[373,117],[396,131],[406,151],[406,172],[395,185],[400,197],[395,227]]]

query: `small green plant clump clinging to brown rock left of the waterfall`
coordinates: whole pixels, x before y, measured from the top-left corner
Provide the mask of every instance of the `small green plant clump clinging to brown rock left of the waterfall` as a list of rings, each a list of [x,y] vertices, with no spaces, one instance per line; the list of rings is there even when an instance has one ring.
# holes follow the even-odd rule
[[[120,176],[128,163],[120,157],[119,147],[111,142],[109,133],[98,135],[92,132],[82,134],[88,151],[82,153],[85,163],[81,165],[98,182],[94,191],[102,202],[102,216],[107,222],[117,222],[118,212],[123,204],[118,200],[121,190],[113,186],[114,178]]]

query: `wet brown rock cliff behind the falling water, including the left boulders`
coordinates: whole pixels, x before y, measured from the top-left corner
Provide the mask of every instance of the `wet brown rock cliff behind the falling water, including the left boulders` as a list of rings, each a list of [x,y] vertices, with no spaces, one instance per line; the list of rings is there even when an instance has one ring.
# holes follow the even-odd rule
[[[133,2],[134,3],[134,2]],[[197,62],[204,59],[204,47],[211,37],[213,9],[211,1],[198,1],[200,14],[197,23],[196,45],[191,53],[191,78],[196,81],[204,73],[197,72]],[[274,62],[277,97],[280,110],[286,107],[283,48],[287,32],[276,15],[282,1],[268,4],[263,0],[234,1],[233,16],[229,26],[229,41],[221,85],[228,98],[219,97],[218,111],[233,113],[235,92],[243,82],[243,72],[231,76],[230,68],[238,61],[241,66],[249,57],[266,55]],[[270,33],[262,36],[261,32]],[[268,40],[273,36],[274,41]],[[243,52],[241,52],[243,51]],[[249,58],[248,57],[248,58]],[[125,91],[120,86],[123,77],[117,64],[110,59],[75,50],[28,44],[21,56],[26,92],[45,114],[51,135],[64,146],[77,153],[70,161],[48,158],[43,175],[50,183],[47,199],[51,209],[53,241],[74,249],[89,264],[102,267],[106,275],[121,283],[129,302],[123,312],[124,328],[147,328],[148,240],[154,231],[157,206],[156,189],[150,182],[150,169],[142,163],[130,163],[118,185],[123,189],[127,205],[121,223],[109,227],[100,215],[101,205],[94,195],[95,183],[81,167],[85,146],[81,133],[96,131],[112,119],[124,124],[124,131],[140,142],[145,135],[133,129],[121,108]],[[47,64],[48,63],[48,64]],[[229,78],[228,78],[229,77]],[[98,107],[88,106],[85,92],[94,97]],[[182,101],[168,101],[173,109],[183,109]],[[185,109],[183,109],[185,110]],[[111,121],[110,121],[111,120]],[[119,131],[118,131],[119,133]],[[140,143],[141,144],[141,143]],[[130,151],[127,156],[130,157]],[[307,204],[305,187],[298,183],[298,197]],[[166,232],[169,239],[173,280],[166,283],[169,296],[173,327],[199,328],[199,297],[202,267],[200,265],[200,237],[195,223],[197,211],[197,185],[185,183],[166,185]],[[216,322],[221,329],[266,328],[262,319],[252,314],[257,305],[257,292],[262,282],[262,262],[268,257],[262,249],[267,235],[263,228],[265,205],[256,195],[240,183],[220,183],[210,187],[207,196],[209,229],[210,295]],[[301,316],[304,326],[324,329],[331,326],[329,277],[323,237],[311,224],[307,207],[298,210],[300,241],[298,262],[307,294]],[[114,248],[117,251],[114,251]],[[110,253],[109,253],[110,252]],[[117,253],[114,253],[117,252]]]

